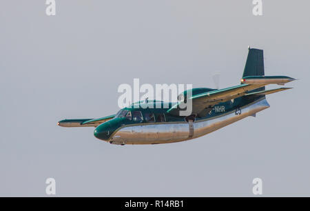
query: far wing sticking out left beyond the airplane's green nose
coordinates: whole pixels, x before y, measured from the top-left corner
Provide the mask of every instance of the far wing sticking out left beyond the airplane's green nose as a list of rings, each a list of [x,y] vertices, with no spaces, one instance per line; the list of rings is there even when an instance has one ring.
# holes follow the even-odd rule
[[[62,127],[96,127],[101,123],[113,119],[114,117],[115,114],[107,117],[101,117],[99,119],[63,119],[57,124]]]

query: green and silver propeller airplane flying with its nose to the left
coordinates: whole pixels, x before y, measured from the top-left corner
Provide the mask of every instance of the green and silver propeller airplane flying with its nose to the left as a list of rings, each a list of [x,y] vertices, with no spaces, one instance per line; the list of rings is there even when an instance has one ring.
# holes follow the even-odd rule
[[[245,117],[256,117],[256,113],[270,107],[267,94],[291,89],[265,90],[265,86],[285,85],[296,79],[265,76],[263,50],[248,49],[245,69],[237,86],[193,88],[188,96],[189,90],[179,94],[176,102],[138,101],[117,114],[99,119],[64,119],[58,125],[95,127],[94,136],[112,144],[158,144],[196,139]],[[181,115],[180,110],[184,108],[180,104],[189,100],[192,100],[192,112],[185,117]]]

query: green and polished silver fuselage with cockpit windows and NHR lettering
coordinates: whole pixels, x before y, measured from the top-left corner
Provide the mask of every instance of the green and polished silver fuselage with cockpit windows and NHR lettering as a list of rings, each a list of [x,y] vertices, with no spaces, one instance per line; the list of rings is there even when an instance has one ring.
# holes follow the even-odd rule
[[[173,104],[169,105],[170,107]],[[219,103],[206,117],[196,117],[192,121],[184,117],[174,117],[165,109],[124,108],[141,112],[143,120],[134,122],[130,119],[116,118],[99,125],[94,130],[95,137],[113,144],[156,144],[173,143],[195,139],[218,130],[245,117],[269,108],[264,97],[240,97],[234,101]],[[145,115],[154,114],[154,122],[147,122]],[[165,121],[158,122],[156,115],[165,115]]]

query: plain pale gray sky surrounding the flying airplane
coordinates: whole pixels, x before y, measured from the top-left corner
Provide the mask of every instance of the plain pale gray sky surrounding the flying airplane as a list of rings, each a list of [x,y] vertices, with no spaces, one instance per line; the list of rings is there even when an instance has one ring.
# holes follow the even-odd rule
[[[3,1],[0,8],[0,196],[310,196],[309,1]],[[300,79],[271,108],[204,137],[111,145],[65,118],[118,111],[121,83],[239,83],[247,46],[266,75]]]

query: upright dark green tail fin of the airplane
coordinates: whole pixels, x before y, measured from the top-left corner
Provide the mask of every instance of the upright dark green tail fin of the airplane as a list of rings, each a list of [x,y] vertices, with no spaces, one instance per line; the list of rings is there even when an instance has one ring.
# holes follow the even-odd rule
[[[249,47],[249,54],[247,54],[247,63],[245,63],[245,70],[243,71],[242,78],[248,76],[263,75],[265,75],[263,50]],[[265,86],[262,88],[258,88],[255,91],[259,90],[265,90]]]

